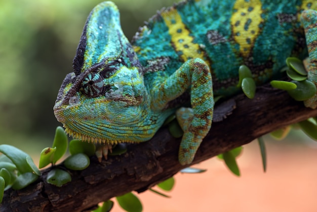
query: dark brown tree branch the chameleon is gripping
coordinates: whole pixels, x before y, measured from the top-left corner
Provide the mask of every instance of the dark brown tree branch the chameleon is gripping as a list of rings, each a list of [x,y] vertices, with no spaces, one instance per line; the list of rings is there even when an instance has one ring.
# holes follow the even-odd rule
[[[192,164],[317,116],[317,110],[305,108],[287,92],[260,87],[254,99],[241,94],[220,104],[214,119],[219,121],[232,111],[234,101],[236,109],[223,121],[213,123]],[[130,145],[123,155],[101,163],[92,157],[87,169],[69,171],[72,181],[60,188],[46,183],[51,168],[45,169],[39,180],[27,188],[6,191],[0,211],[83,211],[114,196],[145,191],[185,168],[177,159],[179,144],[180,139],[173,138],[163,127],[149,142]]]

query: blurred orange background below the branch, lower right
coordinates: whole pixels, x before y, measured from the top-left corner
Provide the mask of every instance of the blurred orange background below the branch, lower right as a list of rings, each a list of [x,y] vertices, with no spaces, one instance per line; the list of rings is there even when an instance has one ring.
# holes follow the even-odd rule
[[[302,142],[302,141],[301,141]],[[144,212],[317,211],[317,143],[287,140],[266,143],[267,170],[263,172],[257,142],[244,146],[237,159],[241,176],[223,161],[212,158],[194,167],[204,173],[175,175],[175,187],[164,198],[146,191],[137,194]],[[159,190],[159,188],[156,188]],[[124,211],[114,201],[113,212]]]

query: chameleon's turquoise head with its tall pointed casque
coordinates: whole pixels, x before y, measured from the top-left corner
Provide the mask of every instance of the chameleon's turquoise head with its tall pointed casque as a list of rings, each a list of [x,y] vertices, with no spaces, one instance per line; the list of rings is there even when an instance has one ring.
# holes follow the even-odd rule
[[[68,134],[108,144],[141,142],[154,134],[139,126],[150,113],[149,99],[141,65],[113,3],[101,3],[90,13],[73,70],[54,105],[54,114]]]

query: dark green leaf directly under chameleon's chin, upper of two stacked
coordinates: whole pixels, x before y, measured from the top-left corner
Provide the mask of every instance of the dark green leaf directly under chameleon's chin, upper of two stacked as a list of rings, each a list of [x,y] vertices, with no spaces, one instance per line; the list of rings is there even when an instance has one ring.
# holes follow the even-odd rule
[[[75,155],[78,153],[84,153],[86,155],[93,156],[96,152],[96,146],[93,143],[83,142],[82,140],[72,139],[69,142],[69,153]]]

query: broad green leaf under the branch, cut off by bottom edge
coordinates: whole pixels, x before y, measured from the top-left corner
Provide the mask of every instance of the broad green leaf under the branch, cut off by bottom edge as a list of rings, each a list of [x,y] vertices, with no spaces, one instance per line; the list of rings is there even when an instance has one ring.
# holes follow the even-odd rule
[[[116,200],[119,205],[128,212],[141,212],[143,209],[139,198],[131,192],[122,196],[117,196]]]

